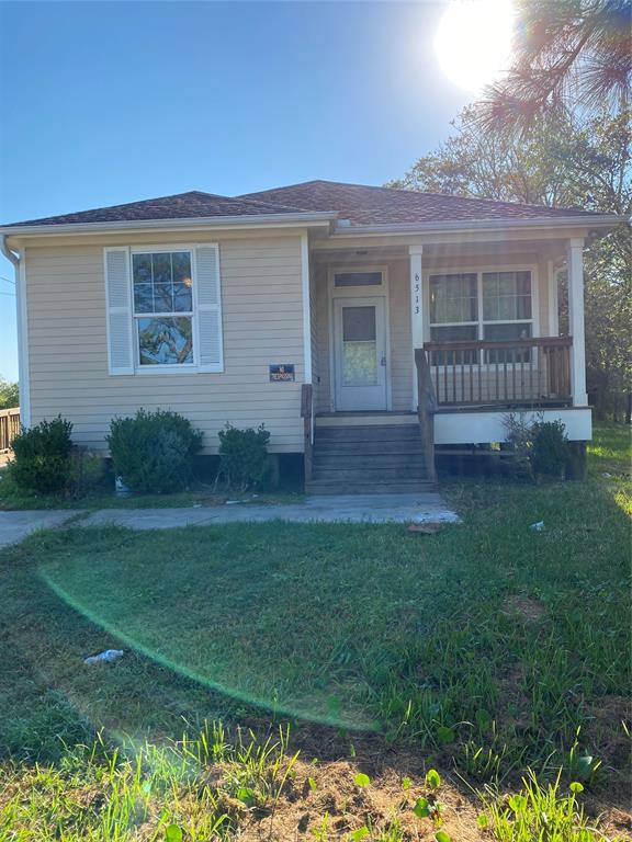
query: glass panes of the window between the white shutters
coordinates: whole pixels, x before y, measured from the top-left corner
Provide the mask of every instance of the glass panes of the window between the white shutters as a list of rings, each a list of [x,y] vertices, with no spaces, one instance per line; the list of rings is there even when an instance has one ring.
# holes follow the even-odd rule
[[[132,254],[139,365],[194,363],[192,274],[190,251]]]

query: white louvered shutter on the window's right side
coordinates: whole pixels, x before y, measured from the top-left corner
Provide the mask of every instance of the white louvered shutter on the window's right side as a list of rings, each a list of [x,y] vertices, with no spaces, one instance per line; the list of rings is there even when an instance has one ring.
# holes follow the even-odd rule
[[[199,368],[201,372],[223,372],[219,248],[215,244],[198,246],[195,270]]]

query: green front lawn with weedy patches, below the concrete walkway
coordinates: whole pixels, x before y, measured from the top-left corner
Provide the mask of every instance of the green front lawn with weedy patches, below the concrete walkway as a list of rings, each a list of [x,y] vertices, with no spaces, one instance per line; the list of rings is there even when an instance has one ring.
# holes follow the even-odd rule
[[[531,842],[539,837],[501,835],[493,805],[490,829],[477,828],[483,807],[459,783],[501,794],[529,767],[541,782],[562,769],[560,792],[580,781],[588,809],[605,809],[609,837],[624,839],[632,828],[620,811],[630,769],[631,489],[629,453],[617,451],[629,439],[607,432],[586,482],[450,485],[463,523],[437,535],[345,524],[74,528],[4,550],[0,751],[16,765],[8,765],[0,789],[9,816],[2,839],[163,839],[173,819],[185,839],[199,840],[351,839],[362,827],[368,833],[358,839],[430,840],[439,817],[411,812],[421,797],[441,801],[454,842]],[[539,521],[544,530],[531,530]],[[82,663],[106,647],[125,656]],[[236,748],[215,758],[207,743],[218,738],[205,731],[189,752],[200,769],[180,781],[183,789],[169,776],[168,786],[151,783],[156,763],[193,762],[171,739],[219,718]],[[241,747],[239,755],[237,726],[264,735],[287,720],[290,746],[270,755],[282,754],[276,783],[266,777],[266,781],[244,784],[252,752]],[[91,744],[99,730],[103,744],[88,762],[71,747]],[[119,766],[103,760],[106,747],[132,758],[132,781],[131,747],[137,752],[146,740],[147,767],[137,773],[138,793],[149,787],[145,807],[139,794],[129,796],[122,835],[89,835],[102,828],[115,790]],[[301,758],[281,781],[296,750]],[[46,781],[34,781],[34,761],[48,770]],[[439,799],[424,778],[431,765],[451,782]],[[358,784],[358,772],[370,784]],[[74,816],[64,818],[67,835],[19,835],[19,827],[41,828],[68,775],[72,793],[102,795],[59,807]],[[40,807],[29,810],[31,790]],[[195,824],[200,812],[205,821],[228,816],[216,837]],[[509,818],[517,826],[516,811]]]

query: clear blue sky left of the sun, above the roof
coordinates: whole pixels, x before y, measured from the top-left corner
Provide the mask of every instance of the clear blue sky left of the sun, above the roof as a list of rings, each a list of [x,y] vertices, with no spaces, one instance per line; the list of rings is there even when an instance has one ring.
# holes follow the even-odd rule
[[[444,7],[0,2],[0,219],[396,178],[472,99],[435,55]],[[10,379],[12,291],[0,281]]]

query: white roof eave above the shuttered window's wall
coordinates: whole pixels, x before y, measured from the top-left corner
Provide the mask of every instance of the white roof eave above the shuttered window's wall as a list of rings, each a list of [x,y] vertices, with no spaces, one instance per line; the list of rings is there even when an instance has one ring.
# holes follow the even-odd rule
[[[187,228],[203,230],[208,228],[301,228],[306,225],[329,226],[337,214],[330,212],[309,212],[304,214],[257,214],[248,216],[207,216],[185,217],[182,219],[124,219],[109,223],[61,223],[43,225],[0,226],[0,234],[7,237],[46,237],[57,234],[108,234],[110,231],[172,230]]]

